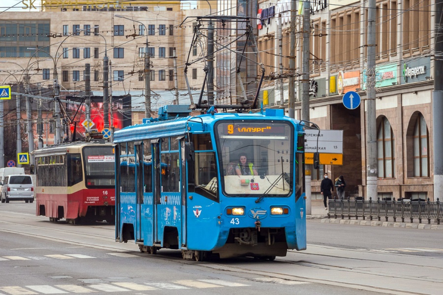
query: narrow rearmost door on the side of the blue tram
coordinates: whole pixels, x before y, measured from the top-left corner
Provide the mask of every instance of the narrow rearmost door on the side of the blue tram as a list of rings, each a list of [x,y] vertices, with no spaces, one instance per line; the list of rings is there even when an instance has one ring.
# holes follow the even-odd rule
[[[136,240],[143,241],[143,145],[135,144],[135,196],[137,198],[137,234]]]

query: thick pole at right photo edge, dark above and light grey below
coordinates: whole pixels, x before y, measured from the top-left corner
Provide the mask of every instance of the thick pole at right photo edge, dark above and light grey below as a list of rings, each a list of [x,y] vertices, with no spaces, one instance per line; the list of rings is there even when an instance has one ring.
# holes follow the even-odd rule
[[[432,139],[434,141],[434,201],[443,196],[443,0],[435,1],[434,91],[432,92]]]

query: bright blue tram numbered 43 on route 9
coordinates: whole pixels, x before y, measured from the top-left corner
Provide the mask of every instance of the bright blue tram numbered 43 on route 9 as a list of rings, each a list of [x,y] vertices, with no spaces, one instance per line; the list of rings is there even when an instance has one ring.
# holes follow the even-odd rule
[[[115,132],[116,241],[195,261],[306,249],[303,124],[211,112]]]

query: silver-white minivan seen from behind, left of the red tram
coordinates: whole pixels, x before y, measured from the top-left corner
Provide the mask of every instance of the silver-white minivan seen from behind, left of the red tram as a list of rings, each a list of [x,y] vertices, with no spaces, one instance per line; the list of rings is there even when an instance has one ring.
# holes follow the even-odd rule
[[[34,202],[34,185],[30,175],[8,175],[1,188],[1,203],[13,201]]]

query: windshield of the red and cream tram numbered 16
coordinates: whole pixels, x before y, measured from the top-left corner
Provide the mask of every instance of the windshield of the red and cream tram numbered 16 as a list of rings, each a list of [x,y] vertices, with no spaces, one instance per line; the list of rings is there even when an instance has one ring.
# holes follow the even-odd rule
[[[85,147],[86,187],[114,187],[115,186],[115,154],[114,147],[95,146]]]

